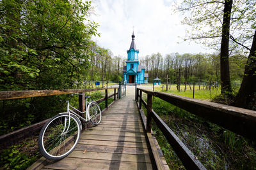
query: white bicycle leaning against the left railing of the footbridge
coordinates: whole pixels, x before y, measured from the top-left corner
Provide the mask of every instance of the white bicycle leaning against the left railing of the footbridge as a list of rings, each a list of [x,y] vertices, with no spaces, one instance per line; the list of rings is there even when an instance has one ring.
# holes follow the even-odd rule
[[[81,95],[81,94],[77,94]],[[71,95],[70,99],[74,94]],[[67,102],[67,112],[59,113],[55,117],[49,120],[42,130],[40,131],[38,138],[38,146],[40,153],[49,160],[60,160],[67,157],[76,147],[83,122],[91,122],[93,125],[98,125],[101,121],[101,111],[99,104],[95,101],[89,103],[87,99],[90,96],[85,97],[84,112],[77,110],[69,104],[70,99]],[[84,114],[83,118],[77,113]]]

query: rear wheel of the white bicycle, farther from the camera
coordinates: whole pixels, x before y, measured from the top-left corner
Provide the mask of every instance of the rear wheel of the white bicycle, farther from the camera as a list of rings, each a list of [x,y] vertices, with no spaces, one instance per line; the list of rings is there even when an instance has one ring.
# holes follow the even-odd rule
[[[92,122],[93,125],[98,125],[101,121],[100,106],[95,102],[90,103],[88,111],[90,115],[90,122]]]

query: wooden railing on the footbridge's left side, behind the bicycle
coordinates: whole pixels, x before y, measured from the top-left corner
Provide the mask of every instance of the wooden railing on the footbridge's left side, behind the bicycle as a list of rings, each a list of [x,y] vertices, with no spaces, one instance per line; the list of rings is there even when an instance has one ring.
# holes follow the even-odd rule
[[[114,93],[108,96],[109,89],[114,89]],[[116,99],[120,99],[120,94],[118,94],[118,92],[119,92],[118,89],[119,89],[119,87],[100,88],[100,89],[2,91],[2,92],[0,92],[0,100],[22,99],[22,98],[27,98],[27,97],[55,96],[55,95],[61,95],[61,94],[80,93],[82,95],[79,95],[79,110],[84,111],[85,110],[84,92],[105,90],[105,97],[97,100],[96,102],[102,103],[103,101],[105,101],[105,110],[106,110],[112,104],[111,103],[108,105],[108,99],[110,97],[114,97],[114,102],[116,101]],[[13,145],[13,144],[19,142],[21,139],[28,138],[29,136],[31,136],[33,134],[37,134],[48,120],[49,119],[39,122],[37,124],[30,125],[29,127],[24,127],[17,131],[10,132],[8,134],[0,136],[0,149],[5,148],[10,145]]]

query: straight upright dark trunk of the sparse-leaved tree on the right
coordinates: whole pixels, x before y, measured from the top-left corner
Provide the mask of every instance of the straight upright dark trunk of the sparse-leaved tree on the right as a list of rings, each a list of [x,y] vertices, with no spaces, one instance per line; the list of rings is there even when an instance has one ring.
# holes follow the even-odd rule
[[[221,94],[231,92],[229,63],[228,63],[228,41],[230,28],[230,13],[232,10],[232,0],[225,0],[223,11],[223,24],[220,48],[220,78],[221,78]]]

